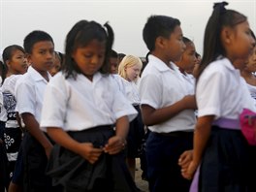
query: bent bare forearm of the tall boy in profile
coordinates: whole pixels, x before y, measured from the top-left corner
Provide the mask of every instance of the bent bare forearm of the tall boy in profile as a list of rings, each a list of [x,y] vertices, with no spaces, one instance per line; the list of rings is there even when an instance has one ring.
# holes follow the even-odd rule
[[[196,100],[194,95],[187,95],[177,101],[174,105],[157,110],[148,105],[142,105],[144,124],[146,126],[160,124],[172,118],[178,112],[182,112],[187,109],[196,109]]]

